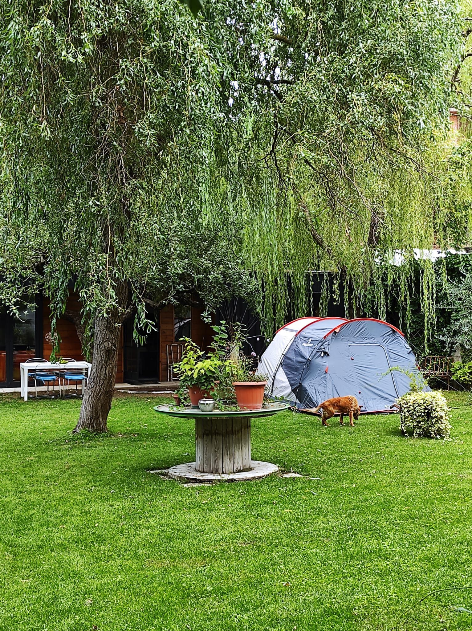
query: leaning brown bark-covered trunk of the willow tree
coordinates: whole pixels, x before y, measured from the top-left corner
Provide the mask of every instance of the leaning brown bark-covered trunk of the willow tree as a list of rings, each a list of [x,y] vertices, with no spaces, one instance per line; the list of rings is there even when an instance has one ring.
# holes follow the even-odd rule
[[[107,418],[115,389],[120,331],[126,304],[127,288],[123,283],[117,288],[117,307],[106,317],[97,315],[95,318],[91,374],[74,433],[83,429],[90,432],[108,431]]]

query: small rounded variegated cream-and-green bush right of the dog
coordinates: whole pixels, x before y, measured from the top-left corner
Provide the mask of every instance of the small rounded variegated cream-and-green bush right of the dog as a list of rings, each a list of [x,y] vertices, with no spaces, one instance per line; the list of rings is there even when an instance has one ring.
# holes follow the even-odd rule
[[[413,438],[447,438],[451,433],[449,408],[440,392],[408,392],[397,399],[400,429]]]

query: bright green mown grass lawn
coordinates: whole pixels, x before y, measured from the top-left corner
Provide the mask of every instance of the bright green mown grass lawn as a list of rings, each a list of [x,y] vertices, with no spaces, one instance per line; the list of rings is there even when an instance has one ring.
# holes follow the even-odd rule
[[[472,628],[472,408],[449,442],[398,417],[322,428],[283,413],[252,455],[303,478],[184,487],[192,423],[115,399],[105,437],[78,401],[0,399],[0,629],[439,631]]]

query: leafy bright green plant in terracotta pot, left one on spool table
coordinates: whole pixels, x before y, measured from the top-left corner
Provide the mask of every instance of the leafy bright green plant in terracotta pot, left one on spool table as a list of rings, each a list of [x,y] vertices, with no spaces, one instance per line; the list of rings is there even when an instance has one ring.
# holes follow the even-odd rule
[[[221,360],[215,353],[207,356],[191,339],[183,339],[186,345],[182,359],[175,367],[180,379],[179,391],[186,387],[192,406],[198,408],[199,400],[208,399],[215,389]]]

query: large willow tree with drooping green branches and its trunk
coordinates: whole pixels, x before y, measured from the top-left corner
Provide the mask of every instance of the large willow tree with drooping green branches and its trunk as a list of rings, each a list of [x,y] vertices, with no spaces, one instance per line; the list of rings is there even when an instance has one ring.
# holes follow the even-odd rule
[[[106,428],[146,300],[211,305],[244,269],[271,326],[288,283],[307,308],[307,270],[362,298],[382,251],[440,233],[421,156],[461,54],[452,3],[211,0],[192,20],[175,0],[11,0],[0,24],[2,295],[40,284],[54,324],[73,282],[94,345],[78,428]]]

